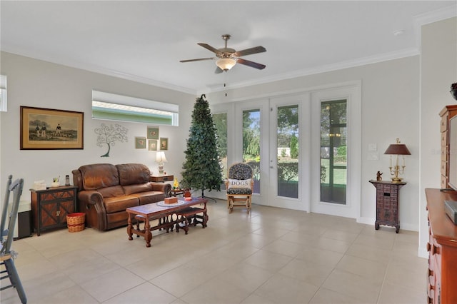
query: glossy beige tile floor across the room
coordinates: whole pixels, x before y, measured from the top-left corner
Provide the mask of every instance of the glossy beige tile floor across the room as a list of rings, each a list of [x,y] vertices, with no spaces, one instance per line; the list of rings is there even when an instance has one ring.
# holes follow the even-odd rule
[[[418,233],[352,219],[208,203],[188,235],[66,229],[14,241],[28,303],[425,303]],[[2,283],[4,285],[4,283]],[[1,303],[20,303],[16,290]]]

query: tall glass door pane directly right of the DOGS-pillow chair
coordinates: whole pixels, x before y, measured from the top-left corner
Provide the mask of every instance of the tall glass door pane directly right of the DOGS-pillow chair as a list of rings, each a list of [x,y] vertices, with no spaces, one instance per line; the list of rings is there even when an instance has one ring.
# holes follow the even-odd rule
[[[260,193],[260,110],[243,111],[243,162],[254,172],[254,191]]]

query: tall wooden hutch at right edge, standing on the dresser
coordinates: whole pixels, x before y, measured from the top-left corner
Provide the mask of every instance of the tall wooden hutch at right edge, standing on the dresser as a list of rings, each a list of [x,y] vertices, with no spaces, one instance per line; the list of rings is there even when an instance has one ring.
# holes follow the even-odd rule
[[[450,188],[449,177],[449,120],[457,115],[457,105],[445,106],[440,111],[441,117],[441,188]]]

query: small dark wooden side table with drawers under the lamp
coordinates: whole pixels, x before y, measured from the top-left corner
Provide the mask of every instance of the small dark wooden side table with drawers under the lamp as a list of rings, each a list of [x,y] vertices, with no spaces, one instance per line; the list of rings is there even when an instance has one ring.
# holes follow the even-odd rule
[[[396,228],[396,233],[398,233],[398,230],[400,230],[398,191],[406,183],[374,180],[371,180],[370,183],[376,187],[376,222],[374,228],[378,230],[380,225],[393,226]]]

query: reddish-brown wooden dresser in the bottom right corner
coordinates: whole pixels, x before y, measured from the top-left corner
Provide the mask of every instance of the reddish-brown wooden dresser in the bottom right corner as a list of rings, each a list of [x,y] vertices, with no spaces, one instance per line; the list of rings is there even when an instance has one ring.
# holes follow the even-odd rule
[[[457,303],[457,226],[446,216],[444,201],[456,191],[426,189],[428,210],[427,303]]]

